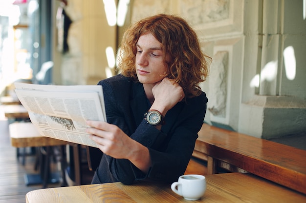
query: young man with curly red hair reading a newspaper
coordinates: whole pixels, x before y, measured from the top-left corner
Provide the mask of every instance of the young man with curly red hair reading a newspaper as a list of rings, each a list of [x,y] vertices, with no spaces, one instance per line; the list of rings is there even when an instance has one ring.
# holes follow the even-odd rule
[[[184,19],[164,14],[132,25],[120,55],[121,74],[98,83],[108,122],[87,121],[104,153],[92,184],[177,181],[203,124],[209,57]]]

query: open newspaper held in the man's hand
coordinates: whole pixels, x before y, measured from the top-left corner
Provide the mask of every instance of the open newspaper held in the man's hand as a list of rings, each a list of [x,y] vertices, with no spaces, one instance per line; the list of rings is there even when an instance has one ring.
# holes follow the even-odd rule
[[[41,135],[97,148],[86,121],[106,121],[102,86],[14,84]]]

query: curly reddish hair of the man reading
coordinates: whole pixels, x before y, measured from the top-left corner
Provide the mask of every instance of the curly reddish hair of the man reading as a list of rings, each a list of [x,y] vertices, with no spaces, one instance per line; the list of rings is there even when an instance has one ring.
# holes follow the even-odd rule
[[[119,55],[121,74],[138,81],[136,43],[146,33],[151,33],[162,44],[163,58],[169,69],[166,77],[178,83],[186,97],[198,96],[201,93],[199,83],[205,81],[208,74],[206,58],[211,58],[202,53],[197,34],[186,20],[174,15],[159,14],[144,18],[126,30]]]

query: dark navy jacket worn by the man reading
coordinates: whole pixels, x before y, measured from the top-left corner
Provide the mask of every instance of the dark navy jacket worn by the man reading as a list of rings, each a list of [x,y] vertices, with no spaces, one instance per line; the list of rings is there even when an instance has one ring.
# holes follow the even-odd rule
[[[207,98],[200,96],[178,102],[165,116],[161,130],[147,123],[144,113],[150,109],[143,85],[121,74],[101,80],[107,122],[117,125],[133,140],[149,148],[152,167],[144,174],[127,159],[115,159],[103,154],[92,184],[153,179],[172,183],[183,175],[197,139]]]

